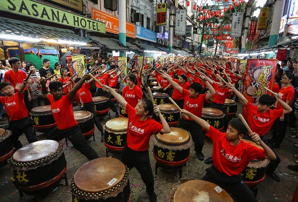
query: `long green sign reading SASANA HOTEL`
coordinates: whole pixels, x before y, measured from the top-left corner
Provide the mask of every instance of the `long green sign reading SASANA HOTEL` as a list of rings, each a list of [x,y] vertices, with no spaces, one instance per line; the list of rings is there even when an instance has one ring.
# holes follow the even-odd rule
[[[33,0],[2,0],[0,10],[52,23],[105,33],[105,25],[102,22]]]

